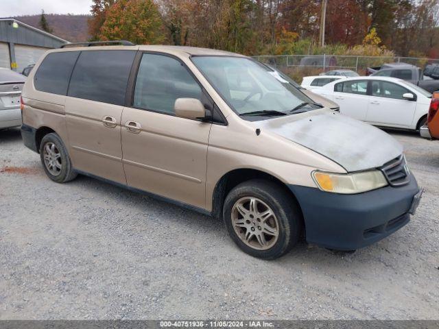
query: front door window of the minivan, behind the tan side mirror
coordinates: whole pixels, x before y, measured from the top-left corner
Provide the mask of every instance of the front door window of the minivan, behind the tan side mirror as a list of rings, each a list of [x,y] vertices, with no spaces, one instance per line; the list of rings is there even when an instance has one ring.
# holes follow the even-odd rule
[[[243,83],[245,87],[248,82]],[[201,94],[198,83],[178,60],[143,54],[134,89],[134,107],[174,114],[176,99],[201,99]]]

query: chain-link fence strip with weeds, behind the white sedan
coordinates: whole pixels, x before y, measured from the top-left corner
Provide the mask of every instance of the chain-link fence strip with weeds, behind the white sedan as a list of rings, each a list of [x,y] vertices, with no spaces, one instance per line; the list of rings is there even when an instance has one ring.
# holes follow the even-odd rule
[[[439,59],[393,56],[340,56],[340,55],[261,55],[253,56],[301,82],[302,77],[318,75],[335,69],[350,69],[359,75],[366,75],[366,69],[385,63],[401,62],[425,68],[427,64],[438,63]]]

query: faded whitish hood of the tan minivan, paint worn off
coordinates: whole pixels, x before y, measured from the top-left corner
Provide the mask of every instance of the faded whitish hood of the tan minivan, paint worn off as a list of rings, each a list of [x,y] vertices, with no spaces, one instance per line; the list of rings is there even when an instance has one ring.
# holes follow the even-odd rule
[[[381,167],[403,152],[382,130],[326,109],[254,124],[326,156],[348,172]]]

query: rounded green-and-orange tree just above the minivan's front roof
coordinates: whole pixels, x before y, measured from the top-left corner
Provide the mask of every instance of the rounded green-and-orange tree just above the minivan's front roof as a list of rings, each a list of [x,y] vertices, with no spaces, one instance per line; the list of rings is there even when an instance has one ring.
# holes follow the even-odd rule
[[[152,0],[119,0],[106,10],[101,40],[130,40],[138,45],[161,43],[163,21]]]

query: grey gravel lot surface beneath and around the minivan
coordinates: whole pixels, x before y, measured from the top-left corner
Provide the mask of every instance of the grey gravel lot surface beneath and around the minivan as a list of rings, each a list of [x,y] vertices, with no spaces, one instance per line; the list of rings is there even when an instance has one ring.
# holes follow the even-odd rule
[[[439,319],[439,142],[391,133],[425,187],[410,223],[354,254],[302,243],[263,261],[216,219],[51,182],[0,132],[0,319]]]

